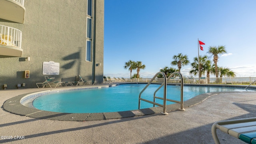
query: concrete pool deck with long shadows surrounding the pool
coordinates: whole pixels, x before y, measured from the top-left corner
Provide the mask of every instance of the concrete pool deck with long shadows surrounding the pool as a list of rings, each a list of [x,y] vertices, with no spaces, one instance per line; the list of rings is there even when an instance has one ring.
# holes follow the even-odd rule
[[[185,111],[169,112],[168,109],[168,115],[150,114],[107,120],[47,120],[41,119],[42,116],[31,118],[4,110],[3,104],[8,99],[41,90],[50,88],[0,90],[0,134],[13,136],[12,139],[0,139],[0,143],[214,144],[211,135],[214,122],[256,117],[256,92],[203,94],[194,102],[184,102]],[[175,108],[178,109],[179,105]],[[244,144],[227,134],[217,134],[223,144]],[[24,136],[24,139],[14,139],[14,136]]]

